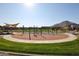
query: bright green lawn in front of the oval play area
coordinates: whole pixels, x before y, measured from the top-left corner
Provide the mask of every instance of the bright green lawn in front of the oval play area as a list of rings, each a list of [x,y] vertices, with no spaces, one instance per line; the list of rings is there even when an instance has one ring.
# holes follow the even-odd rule
[[[65,43],[34,44],[0,38],[0,50],[42,55],[79,55],[79,39]]]

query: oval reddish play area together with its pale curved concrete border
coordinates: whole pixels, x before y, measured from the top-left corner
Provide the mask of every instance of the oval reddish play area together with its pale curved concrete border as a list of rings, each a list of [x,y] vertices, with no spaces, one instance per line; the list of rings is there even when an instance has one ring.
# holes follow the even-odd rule
[[[69,42],[76,40],[77,37],[70,33],[63,33],[63,34],[37,34],[34,36],[34,34],[22,34],[22,33],[16,33],[13,35],[3,35],[3,38],[9,41],[14,42],[24,42],[24,43],[62,43],[62,42]]]

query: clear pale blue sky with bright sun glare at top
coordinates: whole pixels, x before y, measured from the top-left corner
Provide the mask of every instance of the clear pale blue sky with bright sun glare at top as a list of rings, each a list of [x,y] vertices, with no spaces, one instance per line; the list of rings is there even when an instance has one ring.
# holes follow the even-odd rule
[[[18,26],[52,26],[62,21],[79,24],[78,3],[0,3],[0,25],[4,23]]]

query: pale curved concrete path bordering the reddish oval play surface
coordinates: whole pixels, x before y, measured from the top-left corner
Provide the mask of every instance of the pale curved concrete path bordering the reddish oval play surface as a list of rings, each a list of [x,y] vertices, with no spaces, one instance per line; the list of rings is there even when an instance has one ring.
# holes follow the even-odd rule
[[[61,43],[61,42],[68,42],[68,41],[73,41],[76,40],[77,37],[73,34],[70,33],[65,33],[68,35],[68,38],[65,39],[59,39],[59,40],[40,40],[40,41],[35,41],[35,40],[22,40],[22,39],[17,39],[13,38],[11,35],[4,35],[3,38],[6,40],[14,41],[14,42],[24,42],[24,43]]]

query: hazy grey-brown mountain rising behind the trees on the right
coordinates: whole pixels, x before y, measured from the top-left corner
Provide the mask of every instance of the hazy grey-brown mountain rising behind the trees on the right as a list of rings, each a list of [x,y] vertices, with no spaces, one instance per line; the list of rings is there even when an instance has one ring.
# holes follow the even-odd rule
[[[79,24],[70,22],[70,21],[63,21],[61,23],[55,24],[53,27],[65,27],[65,26],[73,26],[73,27],[79,27]]]

